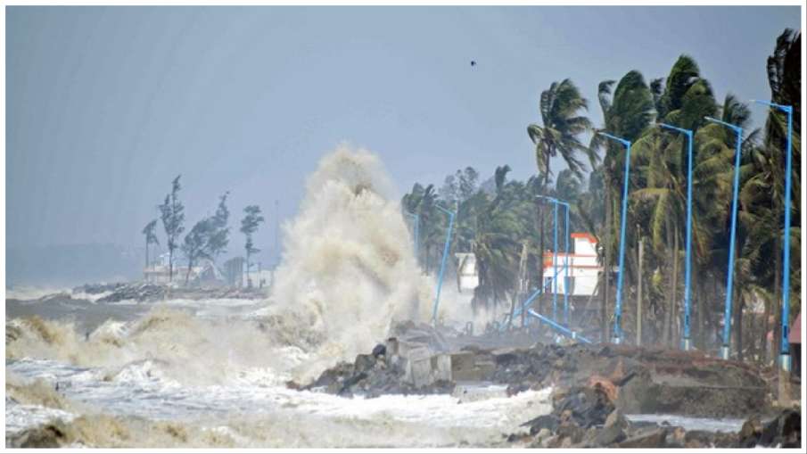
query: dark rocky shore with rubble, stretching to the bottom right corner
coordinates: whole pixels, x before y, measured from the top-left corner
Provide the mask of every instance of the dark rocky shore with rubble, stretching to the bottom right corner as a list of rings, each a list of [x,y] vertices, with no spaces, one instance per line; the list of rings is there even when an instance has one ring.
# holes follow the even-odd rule
[[[553,410],[527,420],[507,442],[530,448],[798,447],[801,411],[774,409],[762,371],[703,353],[629,346],[537,343],[452,350],[431,326],[398,326],[353,363],[295,389],[372,398],[385,393],[451,393],[459,384],[506,385],[507,395],[554,388]],[[626,414],[739,418],[737,433],[631,422]],[[525,415],[525,419],[529,416]]]

